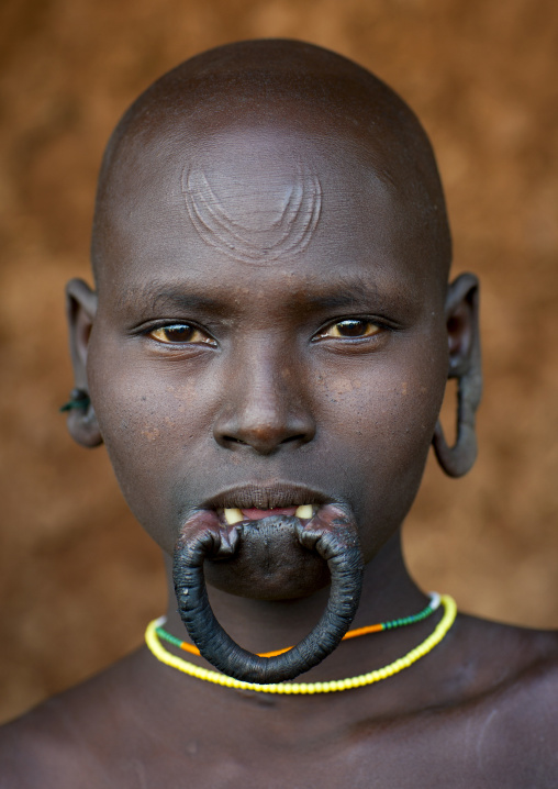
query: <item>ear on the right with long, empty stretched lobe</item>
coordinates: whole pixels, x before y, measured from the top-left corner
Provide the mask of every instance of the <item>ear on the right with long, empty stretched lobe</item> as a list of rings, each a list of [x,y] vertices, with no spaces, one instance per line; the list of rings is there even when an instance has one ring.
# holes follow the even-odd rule
[[[448,378],[458,379],[457,438],[448,446],[438,420],[433,446],[439,465],[450,477],[462,477],[477,458],[475,415],[482,394],[479,335],[479,280],[461,274],[448,287],[446,325],[449,348]]]

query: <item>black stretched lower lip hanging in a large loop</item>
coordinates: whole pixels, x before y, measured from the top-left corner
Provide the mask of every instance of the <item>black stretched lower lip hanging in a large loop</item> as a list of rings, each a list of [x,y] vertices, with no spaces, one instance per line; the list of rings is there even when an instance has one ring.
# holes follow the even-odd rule
[[[211,609],[203,562],[222,555],[223,533],[215,525],[205,525],[193,535],[182,532],[177,542],[174,562],[178,610],[192,641],[203,657],[228,677],[246,682],[267,685],[293,679],[316,666],[339,644],[353,622],[360,599],[364,562],[356,526],[338,508],[332,505],[333,518],[319,516],[305,527],[298,518],[282,518],[282,527],[291,527],[300,544],[316,551],[327,562],[331,592],[327,607],[315,627],[289,652],[275,657],[260,657],[243,649],[220,625]],[[325,513],[324,513],[325,514]],[[317,526],[314,525],[317,523]],[[225,536],[227,553],[242,530],[234,527]]]

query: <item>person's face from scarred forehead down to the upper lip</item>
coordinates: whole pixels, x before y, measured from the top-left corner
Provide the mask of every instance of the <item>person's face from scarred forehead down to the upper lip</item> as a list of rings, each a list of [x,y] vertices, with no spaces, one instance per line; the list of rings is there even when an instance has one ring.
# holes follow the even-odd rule
[[[170,554],[200,508],[343,502],[369,560],[414,499],[448,365],[445,288],[404,197],[331,136],[225,130],[135,156],[87,357],[133,512]],[[238,592],[219,564],[209,580]]]

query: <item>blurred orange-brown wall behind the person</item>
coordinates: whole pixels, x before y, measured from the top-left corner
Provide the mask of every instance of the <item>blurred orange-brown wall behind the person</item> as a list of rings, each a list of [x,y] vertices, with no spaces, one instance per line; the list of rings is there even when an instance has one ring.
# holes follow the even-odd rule
[[[135,648],[165,607],[158,552],[104,449],[75,446],[58,413],[72,385],[63,288],[89,277],[103,146],[161,73],[269,36],[336,49],[414,108],[455,273],[482,280],[480,456],[460,481],[431,458],[405,527],[411,569],[465,611],[558,626],[555,0],[4,0],[0,720]]]

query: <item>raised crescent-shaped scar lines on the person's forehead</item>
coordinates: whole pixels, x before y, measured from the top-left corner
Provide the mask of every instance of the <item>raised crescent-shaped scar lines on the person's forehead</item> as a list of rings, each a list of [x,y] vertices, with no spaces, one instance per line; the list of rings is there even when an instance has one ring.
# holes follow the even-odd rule
[[[217,182],[187,165],[181,187],[190,220],[205,244],[235,260],[261,264],[304,249],[320,220],[317,175],[298,163],[289,181],[268,174],[247,196],[237,184]]]

